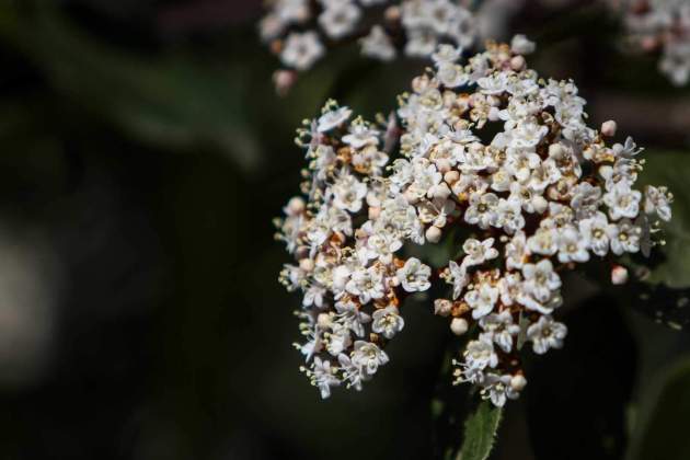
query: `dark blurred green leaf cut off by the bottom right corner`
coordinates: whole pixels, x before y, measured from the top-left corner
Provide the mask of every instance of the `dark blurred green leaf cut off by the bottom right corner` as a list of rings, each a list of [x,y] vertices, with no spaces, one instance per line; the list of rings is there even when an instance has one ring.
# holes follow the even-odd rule
[[[690,458],[690,359],[667,372],[640,411],[629,458],[632,460]]]

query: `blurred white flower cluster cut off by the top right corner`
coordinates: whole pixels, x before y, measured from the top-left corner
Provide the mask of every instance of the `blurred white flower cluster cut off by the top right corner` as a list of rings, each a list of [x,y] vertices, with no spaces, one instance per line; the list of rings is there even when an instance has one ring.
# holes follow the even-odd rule
[[[623,15],[629,39],[643,51],[662,50],[659,70],[678,87],[690,81],[690,2],[608,0]]]

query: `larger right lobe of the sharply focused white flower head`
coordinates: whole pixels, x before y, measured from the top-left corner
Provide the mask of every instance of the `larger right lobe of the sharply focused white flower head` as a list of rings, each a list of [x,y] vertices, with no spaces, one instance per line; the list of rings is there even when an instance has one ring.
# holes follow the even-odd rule
[[[476,324],[457,382],[481,387],[496,405],[527,383],[518,344],[544,354],[563,343],[567,330],[552,318],[560,273],[609,253],[646,252],[656,218],[670,219],[664,187],[634,188],[642,149],[630,138],[607,147],[616,124],[587,127],[575,84],[540,79],[520,55],[530,48],[517,37],[460,65],[458,50],[441,46],[436,70],[402,96],[406,158],[390,177],[429,216],[428,241],[448,227],[469,237],[441,273],[451,299],[436,300],[435,311],[452,318],[457,334]]]

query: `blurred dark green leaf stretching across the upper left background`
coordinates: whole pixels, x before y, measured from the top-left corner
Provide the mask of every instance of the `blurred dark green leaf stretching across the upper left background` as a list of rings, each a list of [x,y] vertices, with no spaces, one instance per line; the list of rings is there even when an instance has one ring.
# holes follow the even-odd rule
[[[7,9],[0,37],[90,118],[157,148],[210,149],[248,171],[261,163],[258,135],[246,122],[256,68],[179,50],[128,53],[95,41],[48,3],[34,3],[26,14]]]

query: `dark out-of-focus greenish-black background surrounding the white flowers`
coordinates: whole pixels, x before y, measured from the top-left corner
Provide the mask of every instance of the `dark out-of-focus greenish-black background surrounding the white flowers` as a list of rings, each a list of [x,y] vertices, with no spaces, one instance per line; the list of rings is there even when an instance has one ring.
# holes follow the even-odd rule
[[[595,126],[617,119],[649,156],[689,150],[690,92],[621,53],[595,2],[555,3],[508,24],[538,41],[532,67],[574,78]],[[329,96],[394,110],[424,62],[346,47],[279,97],[261,13],[0,2],[1,459],[432,459],[460,430],[433,417],[450,337],[423,301],[366,391],[319,400],[273,241],[294,129]],[[690,458],[687,333],[573,285],[566,347],[531,364],[492,458]]]

